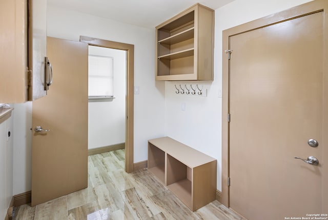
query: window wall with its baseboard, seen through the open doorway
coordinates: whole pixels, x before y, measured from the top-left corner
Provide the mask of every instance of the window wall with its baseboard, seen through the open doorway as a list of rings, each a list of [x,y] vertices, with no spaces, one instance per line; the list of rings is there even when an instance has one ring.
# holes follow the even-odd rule
[[[125,149],[126,51],[89,45],[89,155]]]

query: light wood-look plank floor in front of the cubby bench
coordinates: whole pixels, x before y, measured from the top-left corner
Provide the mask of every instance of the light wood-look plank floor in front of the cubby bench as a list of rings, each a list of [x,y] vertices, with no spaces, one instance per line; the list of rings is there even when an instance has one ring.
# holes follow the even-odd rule
[[[88,188],[31,207],[14,219],[243,219],[218,201],[190,211],[147,169],[124,171],[125,151],[88,156]]]

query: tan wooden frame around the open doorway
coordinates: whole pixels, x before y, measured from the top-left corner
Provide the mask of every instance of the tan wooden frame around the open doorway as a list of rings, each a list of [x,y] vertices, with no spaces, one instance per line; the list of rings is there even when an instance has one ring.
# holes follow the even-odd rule
[[[107,47],[127,51],[127,98],[126,98],[126,140],[125,140],[125,171],[131,173],[133,166],[133,109],[134,109],[134,45],[105,39],[80,36],[80,42],[91,46]]]

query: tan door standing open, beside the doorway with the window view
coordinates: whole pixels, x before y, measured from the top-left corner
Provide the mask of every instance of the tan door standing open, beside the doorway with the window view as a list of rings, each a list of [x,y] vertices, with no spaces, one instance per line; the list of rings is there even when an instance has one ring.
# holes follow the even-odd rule
[[[88,44],[47,41],[53,84],[33,102],[32,206],[88,186]]]

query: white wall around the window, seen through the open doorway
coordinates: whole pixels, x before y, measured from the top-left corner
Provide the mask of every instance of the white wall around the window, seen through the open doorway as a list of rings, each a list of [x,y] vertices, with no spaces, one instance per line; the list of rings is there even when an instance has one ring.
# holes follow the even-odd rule
[[[88,148],[125,143],[126,51],[89,47],[89,55],[113,57],[114,99],[112,102],[89,102]]]

